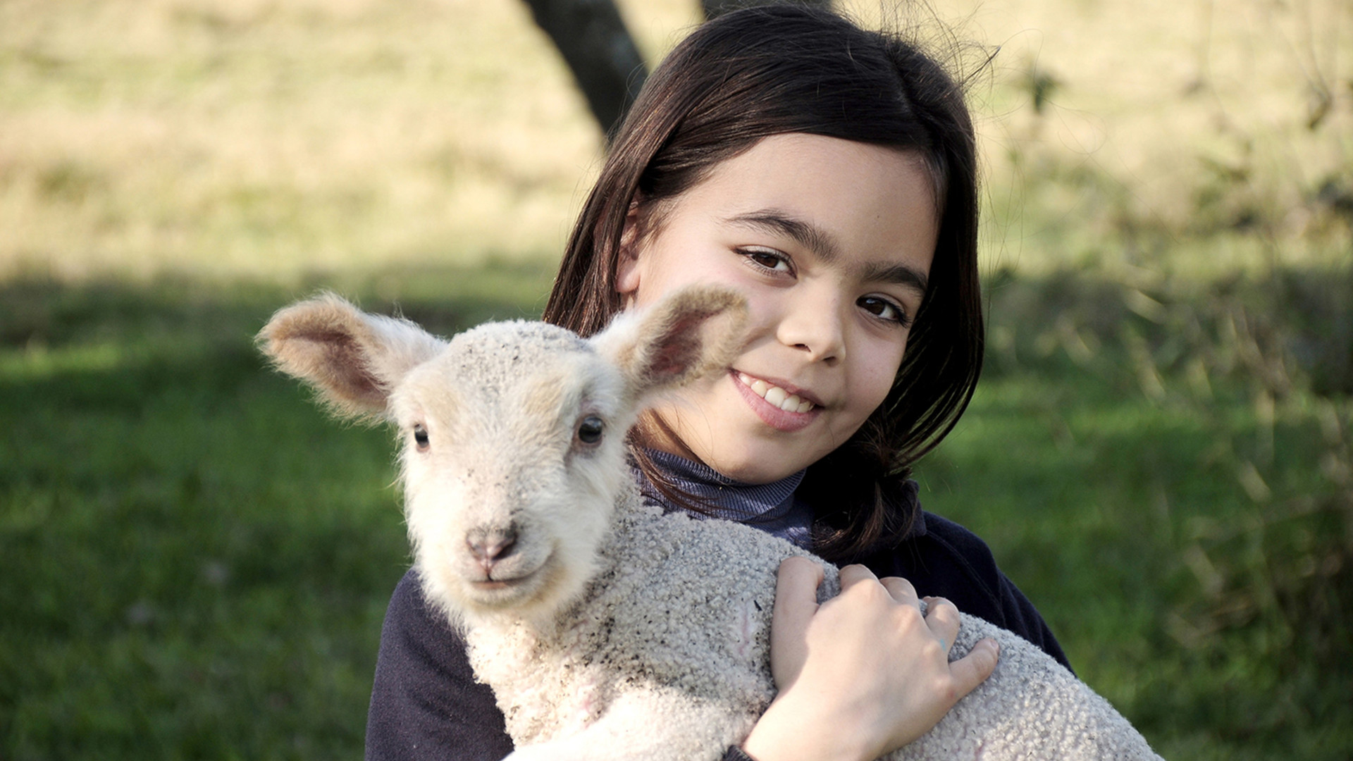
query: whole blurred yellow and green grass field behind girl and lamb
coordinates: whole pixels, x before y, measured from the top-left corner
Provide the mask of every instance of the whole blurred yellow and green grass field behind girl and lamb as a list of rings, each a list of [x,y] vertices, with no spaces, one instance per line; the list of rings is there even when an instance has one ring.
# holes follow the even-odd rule
[[[702,18],[617,4],[649,68]],[[1166,758],[1353,757],[1353,5],[838,7],[982,137],[988,364],[923,504]],[[0,760],[360,756],[390,435],[252,336],[321,287],[538,314],[605,138],[536,18],[0,0]]]

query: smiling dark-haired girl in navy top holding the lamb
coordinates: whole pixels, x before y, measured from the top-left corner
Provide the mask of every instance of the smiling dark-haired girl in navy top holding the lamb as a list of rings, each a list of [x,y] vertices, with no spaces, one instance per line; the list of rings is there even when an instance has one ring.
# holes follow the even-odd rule
[[[947,662],[958,609],[1065,664],[986,546],[923,513],[908,481],[982,357],[974,137],[954,80],[821,11],[754,8],[695,30],[616,135],[545,320],[593,334],[693,282],[741,291],[750,333],[727,374],[636,428],[645,493],[854,563],[820,608],[812,565],[781,567],[779,696],[728,757],[870,760],[920,737],[996,664],[994,643]],[[917,590],[932,596],[924,612]],[[510,750],[463,642],[406,575],[367,757]]]

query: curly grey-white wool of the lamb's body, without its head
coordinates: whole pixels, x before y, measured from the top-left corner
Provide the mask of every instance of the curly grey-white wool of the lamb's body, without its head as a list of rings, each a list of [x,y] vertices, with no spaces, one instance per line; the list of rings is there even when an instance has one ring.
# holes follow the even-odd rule
[[[603,711],[640,714],[640,726],[663,727],[668,745],[653,754],[644,737],[605,733],[605,745],[587,738],[586,757],[721,758],[775,695],[775,570],[790,555],[812,555],[741,524],[664,515],[632,489],[605,546],[601,571],[548,632],[467,632],[471,665],[492,687],[522,749],[513,758],[530,757],[537,743],[584,737]],[[823,597],[835,596],[836,569],[819,562]],[[1001,647],[992,677],[889,758],[1158,758],[1107,700],[1009,631],[963,616],[950,659],[986,636]]]

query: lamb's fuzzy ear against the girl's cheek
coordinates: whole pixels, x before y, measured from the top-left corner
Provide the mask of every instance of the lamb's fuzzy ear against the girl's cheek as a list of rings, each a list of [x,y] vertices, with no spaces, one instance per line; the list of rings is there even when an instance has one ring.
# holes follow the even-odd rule
[[[724,370],[741,347],[747,301],[713,286],[682,288],[640,313],[620,314],[593,337],[639,399]]]

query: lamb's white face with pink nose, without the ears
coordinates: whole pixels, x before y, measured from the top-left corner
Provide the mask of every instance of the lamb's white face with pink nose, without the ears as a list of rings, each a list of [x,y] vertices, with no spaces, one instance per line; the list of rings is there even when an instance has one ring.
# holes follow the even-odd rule
[[[391,393],[425,588],[457,616],[544,620],[591,577],[626,479],[625,379],[538,322],[457,336]]]

